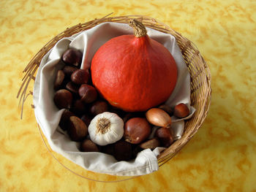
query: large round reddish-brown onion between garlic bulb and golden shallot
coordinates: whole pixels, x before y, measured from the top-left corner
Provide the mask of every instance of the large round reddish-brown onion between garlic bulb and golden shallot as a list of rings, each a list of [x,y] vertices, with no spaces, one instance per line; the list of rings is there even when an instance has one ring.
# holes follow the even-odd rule
[[[124,124],[124,139],[126,142],[138,144],[151,133],[151,126],[146,118],[131,118]]]

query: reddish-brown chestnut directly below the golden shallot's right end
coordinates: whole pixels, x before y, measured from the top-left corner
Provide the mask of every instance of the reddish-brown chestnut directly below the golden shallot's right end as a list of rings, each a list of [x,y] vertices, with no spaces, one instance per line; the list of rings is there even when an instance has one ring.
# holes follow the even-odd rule
[[[162,147],[169,147],[173,143],[171,128],[158,128],[155,135],[160,140]]]

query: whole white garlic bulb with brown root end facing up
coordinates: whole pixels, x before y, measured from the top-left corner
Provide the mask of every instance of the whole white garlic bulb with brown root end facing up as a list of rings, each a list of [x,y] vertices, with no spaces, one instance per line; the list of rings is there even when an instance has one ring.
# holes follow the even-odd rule
[[[124,121],[113,112],[96,115],[88,128],[91,141],[97,145],[117,142],[124,135]]]

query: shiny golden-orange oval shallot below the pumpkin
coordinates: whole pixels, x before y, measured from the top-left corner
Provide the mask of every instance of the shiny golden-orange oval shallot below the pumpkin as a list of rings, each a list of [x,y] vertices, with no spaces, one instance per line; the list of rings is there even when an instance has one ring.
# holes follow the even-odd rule
[[[159,108],[151,108],[146,112],[146,118],[154,126],[170,128],[172,123],[170,115]]]

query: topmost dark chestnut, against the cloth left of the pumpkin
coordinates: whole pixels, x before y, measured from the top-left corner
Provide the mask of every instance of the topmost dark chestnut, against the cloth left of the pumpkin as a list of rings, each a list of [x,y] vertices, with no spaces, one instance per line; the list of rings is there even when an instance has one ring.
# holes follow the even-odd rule
[[[68,49],[62,55],[62,61],[66,64],[79,66],[82,63],[83,53],[80,50]]]

